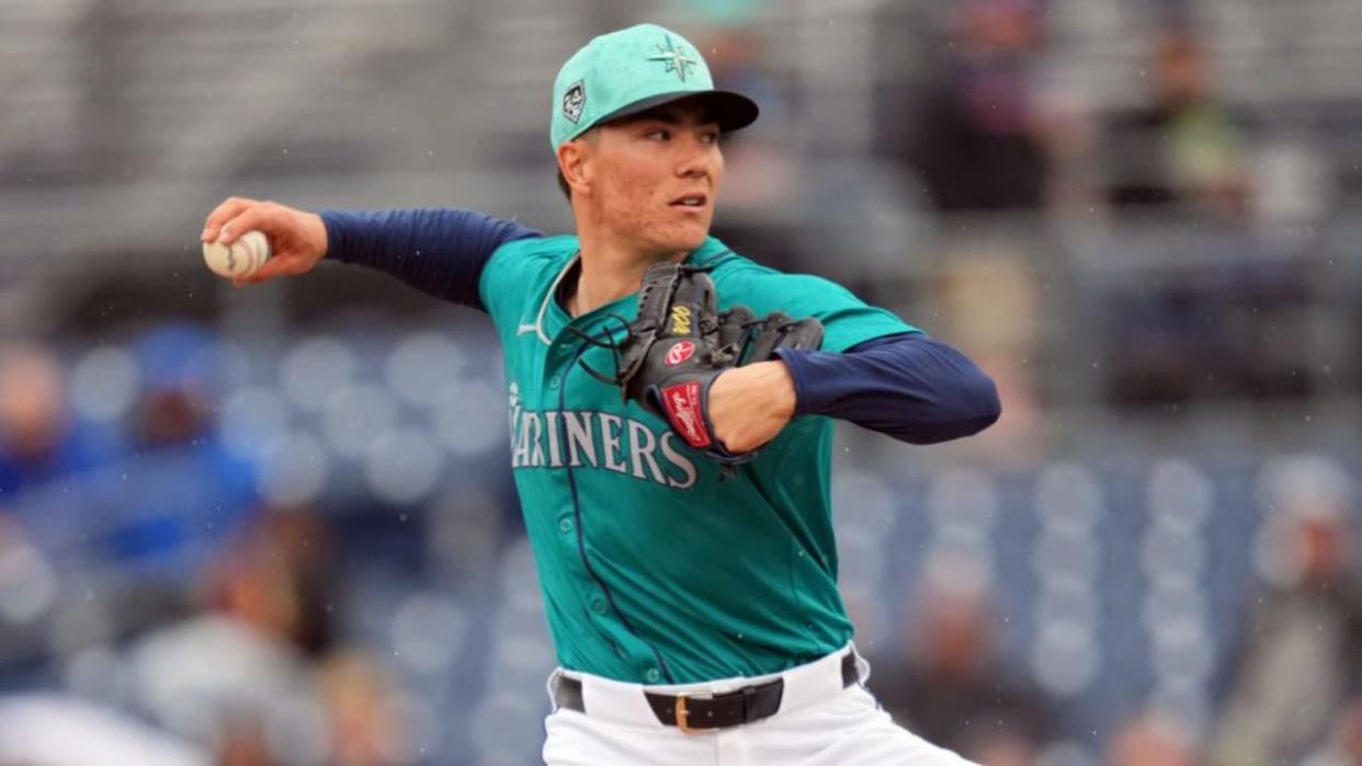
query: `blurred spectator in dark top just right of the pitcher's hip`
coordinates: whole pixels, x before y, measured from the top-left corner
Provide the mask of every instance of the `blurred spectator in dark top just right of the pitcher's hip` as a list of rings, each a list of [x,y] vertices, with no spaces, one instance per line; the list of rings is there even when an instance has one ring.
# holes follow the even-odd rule
[[[981,573],[971,565],[933,570],[906,659],[877,673],[872,690],[896,721],[970,761],[1034,763],[1060,733],[1051,701],[998,654]]]

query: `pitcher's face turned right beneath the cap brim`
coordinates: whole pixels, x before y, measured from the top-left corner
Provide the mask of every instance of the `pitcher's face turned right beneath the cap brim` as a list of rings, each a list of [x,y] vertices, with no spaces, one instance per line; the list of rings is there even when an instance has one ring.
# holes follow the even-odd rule
[[[592,162],[598,220],[648,253],[704,244],[723,180],[719,125],[680,102],[602,127]]]

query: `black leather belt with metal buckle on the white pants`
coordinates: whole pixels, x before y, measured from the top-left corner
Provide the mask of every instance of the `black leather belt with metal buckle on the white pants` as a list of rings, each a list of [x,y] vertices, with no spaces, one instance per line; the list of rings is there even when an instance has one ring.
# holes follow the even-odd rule
[[[846,688],[858,680],[861,675],[855,668],[855,653],[847,652],[842,657],[842,687]],[[643,693],[658,721],[665,727],[677,727],[682,732],[722,729],[775,716],[780,709],[782,695],[785,695],[785,679],[706,697]],[[582,682],[575,678],[558,676],[553,702],[568,710],[587,712],[582,702]]]

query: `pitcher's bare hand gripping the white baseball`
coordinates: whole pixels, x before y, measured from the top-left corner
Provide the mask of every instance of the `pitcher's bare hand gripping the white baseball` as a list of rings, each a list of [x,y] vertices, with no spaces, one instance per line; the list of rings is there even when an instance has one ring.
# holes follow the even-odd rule
[[[321,216],[247,197],[229,197],[214,208],[200,238],[232,245],[248,231],[266,235],[271,256],[255,273],[234,279],[238,286],[308,272],[327,254],[327,227]]]

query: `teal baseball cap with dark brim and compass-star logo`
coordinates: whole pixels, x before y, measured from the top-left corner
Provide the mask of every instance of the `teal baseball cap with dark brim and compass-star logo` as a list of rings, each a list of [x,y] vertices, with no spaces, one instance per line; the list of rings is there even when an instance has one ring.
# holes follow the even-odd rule
[[[707,102],[725,132],[757,118],[755,101],[714,87],[704,57],[680,34],[658,24],[602,34],[558,71],[549,140],[557,151],[597,125],[693,97]]]

